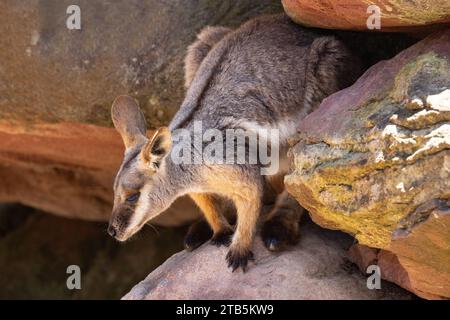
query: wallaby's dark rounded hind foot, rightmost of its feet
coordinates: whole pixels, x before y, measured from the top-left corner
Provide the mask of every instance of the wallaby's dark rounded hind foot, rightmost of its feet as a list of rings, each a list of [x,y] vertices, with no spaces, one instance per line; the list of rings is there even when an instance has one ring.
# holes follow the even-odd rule
[[[298,241],[298,228],[290,226],[289,221],[275,217],[266,221],[261,230],[264,245],[270,251],[282,251]]]

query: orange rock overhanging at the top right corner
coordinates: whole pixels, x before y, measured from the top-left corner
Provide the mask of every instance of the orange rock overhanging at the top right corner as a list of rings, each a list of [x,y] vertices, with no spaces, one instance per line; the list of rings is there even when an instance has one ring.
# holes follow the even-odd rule
[[[317,28],[367,31],[367,19],[377,5],[381,13],[379,31],[424,31],[445,28],[450,23],[447,0],[282,0],[284,10],[296,22]]]

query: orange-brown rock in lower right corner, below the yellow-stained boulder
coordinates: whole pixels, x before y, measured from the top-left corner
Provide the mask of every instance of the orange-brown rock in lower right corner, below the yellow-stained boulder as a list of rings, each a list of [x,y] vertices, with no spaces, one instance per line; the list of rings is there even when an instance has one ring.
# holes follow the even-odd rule
[[[410,234],[395,236],[386,250],[355,244],[349,251],[351,260],[363,271],[377,264],[383,279],[421,297],[448,299],[450,210],[435,208],[429,214]]]

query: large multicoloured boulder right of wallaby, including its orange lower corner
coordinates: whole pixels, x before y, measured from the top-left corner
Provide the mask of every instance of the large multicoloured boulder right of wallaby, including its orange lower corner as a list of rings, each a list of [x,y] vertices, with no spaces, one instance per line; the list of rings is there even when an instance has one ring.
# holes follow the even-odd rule
[[[383,249],[382,275],[425,298],[450,298],[449,88],[447,30],[325,99],[285,179],[315,222]]]

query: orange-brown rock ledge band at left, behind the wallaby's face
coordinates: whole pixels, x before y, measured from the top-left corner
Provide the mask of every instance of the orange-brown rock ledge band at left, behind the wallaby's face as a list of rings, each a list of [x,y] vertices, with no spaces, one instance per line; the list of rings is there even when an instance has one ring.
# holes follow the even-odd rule
[[[123,143],[112,128],[0,123],[0,202],[20,202],[71,218],[107,220]],[[190,199],[155,223],[179,225],[198,214]]]

